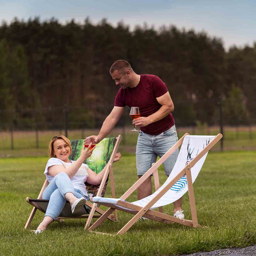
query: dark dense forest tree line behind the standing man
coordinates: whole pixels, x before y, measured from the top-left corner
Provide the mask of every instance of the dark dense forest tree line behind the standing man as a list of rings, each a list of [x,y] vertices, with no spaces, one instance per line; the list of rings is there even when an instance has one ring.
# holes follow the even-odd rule
[[[0,26],[1,128],[57,121],[63,106],[71,125],[100,125],[118,90],[109,75],[118,59],[161,77],[179,125],[218,123],[220,100],[226,124],[256,120],[256,43],[225,51],[221,38],[193,29],[35,18]]]

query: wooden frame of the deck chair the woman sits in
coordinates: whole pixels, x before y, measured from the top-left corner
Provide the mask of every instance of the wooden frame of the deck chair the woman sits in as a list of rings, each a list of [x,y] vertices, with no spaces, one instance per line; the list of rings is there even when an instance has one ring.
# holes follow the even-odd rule
[[[110,156],[110,159],[109,159],[108,163],[104,167],[107,170],[106,170],[105,174],[103,175],[103,178],[102,178],[102,181],[100,183],[100,187],[99,187],[97,196],[101,196],[103,187],[104,187],[107,179],[109,178],[110,179],[110,184],[111,184],[111,196],[113,198],[115,197],[115,183],[114,183],[114,173],[113,173],[113,162],[114,162],[115,155],[117,153],[117,149],[118,149],[119,144],[121,142],[121,139],[122,139],[121,135],[118,135],[118,137],[116,137],[116,143],[115,143],[115,146],[113,148],[112,154]],[[39,195],[38,195],[37,199],[42,199],[43,192],[44,192],[45,188],[47,187],[48,183],[49,182],[45,179],[44,184],[43,184],[43,186],[42,186],[42,188],[41,188],[41,190],[39,192]],[[30,215],[28,217],[26,225],[25,225],[25,229],[28,229],[30,224],[31,224],[31,222],[32,222],[32,220],[33,220],[33,218],[34,218],[34,216],[35,216],[36,210],[38,209],[38,210],[40,210],[42,212],[45,212],[45,211],[36,202],[34,202],[34,201],[31,202],[29,197],[26,198],[26,201],[27,201],[27,203],[29,203],[29,204],[34,206],[33,210],[31,211],[31,213],[30,213]],[[79,217],[59,217],[57,219],[57,221],[62,221],[63,219],[87,218],[87,221],[86,221],[86,224],[85,224],[84,228],[85,229],[89,228],[90,227],[90,223],[92,221],[92,218],[100,218],[101,215],[105,213],[105,211],[100,209],[100,207],[98,207],[97,203],[90,203],[90,202],[87,201],[86,205],[91,208],[90,214],[84,214],[84,215],[81,215]],[[95,214],[95,212],[97,212],[99,214]],[[117,221],[117,212],[115,211],[113,214],[109,214],[107,218],[109,220]]]

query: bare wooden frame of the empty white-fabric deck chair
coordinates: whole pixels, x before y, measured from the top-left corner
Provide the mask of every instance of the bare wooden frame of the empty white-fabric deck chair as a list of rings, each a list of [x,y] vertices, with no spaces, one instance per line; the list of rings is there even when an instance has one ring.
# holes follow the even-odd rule
[[[167,151],[153,166],[137,181],[132,185],[130,189],[128,189],[121,197],[120,199],[125,200],[127,197],[129,197],[139,186],[142,185],[142,183],[151,175],[153,174],[154,182],[156,190],[159,188],[159,178],[158,178],[158,167],[176,150],[178,149],[183,142],[183,139],[186,135],[189,135],[189,133],[186,133],[183,135],[183,137],[175,143],[175,145]],[[129,202],[124,202],[122,200],[117,201],[116,205],[125,207],[126,209],[119,209],[114,208],[113,204],[109,204],[110,208],[97,220],[93,223],[93,225],[89,228],[90,231],[97,228],[107,217],[109,214],[111,214],[115,209],[129,212],[134,214],[134,217],[126,223],[126,225],[118,231],[117,235],[124,234],[127,230],[129,230],[136,221],[139,220],[140,217],[146,217],[151,220],[155,220],[158,222],[163,223],[172,223],[177,222],[182,225],[190,226],[190,227],[201,227],[198,224],[197,221],[197,213],[196,213],[196,204],[195,204],[195,197],[194,197],[194,189],[193,189],[193,181],[191,178],[191,167],[193,167],[201,157],[203,157],[207,151],[209,151],[220,139],[222,138],[222,134],[218,134],[216,137],[212,139],[212,141],[186,166],[184,169],[181,170],[181,172],[174,177],[167,186],[158,193],[151,201],[145,205],[144,207],[134,205]],[[171,215],[163,213],[162,207],[159,207],[159,211],[150,210],[150,207],[153,206],[159,198],[161,198],[167,190],[169,190],[183,175],[187,175],[187,182],[188,182],[188,195],[189,195],[189,204],[190,204],[190,211],[191,211],[191,218],[192,220],[181,220],[178,218],[175,218]],[[106,205],[106,204],[104,204]],[[104,234],[104,233],[103,233]]]

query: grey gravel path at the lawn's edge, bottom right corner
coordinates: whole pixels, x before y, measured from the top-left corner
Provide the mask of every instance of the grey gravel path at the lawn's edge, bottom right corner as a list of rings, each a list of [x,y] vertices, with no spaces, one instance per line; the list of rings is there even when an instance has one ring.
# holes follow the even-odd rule
[[[256,256],[256,245],[251,245],[245,248],[220,249],[212,252],[196,252],[196,253],[190,253],[190,254],[182,254],[179,256],[216,256],[216,255]]]

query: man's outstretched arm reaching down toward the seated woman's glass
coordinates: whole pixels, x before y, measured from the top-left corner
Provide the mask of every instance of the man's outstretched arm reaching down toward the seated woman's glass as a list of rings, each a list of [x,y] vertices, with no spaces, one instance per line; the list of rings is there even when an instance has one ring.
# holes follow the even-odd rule
[[[103,122],[99,134],[97,136],[92,135],[90,137],[87,137],[84,140],[85,144],[90,142],[99,143],[102,139],[104,139],[113,130],[123,113],[124,107],[115,106]]]

